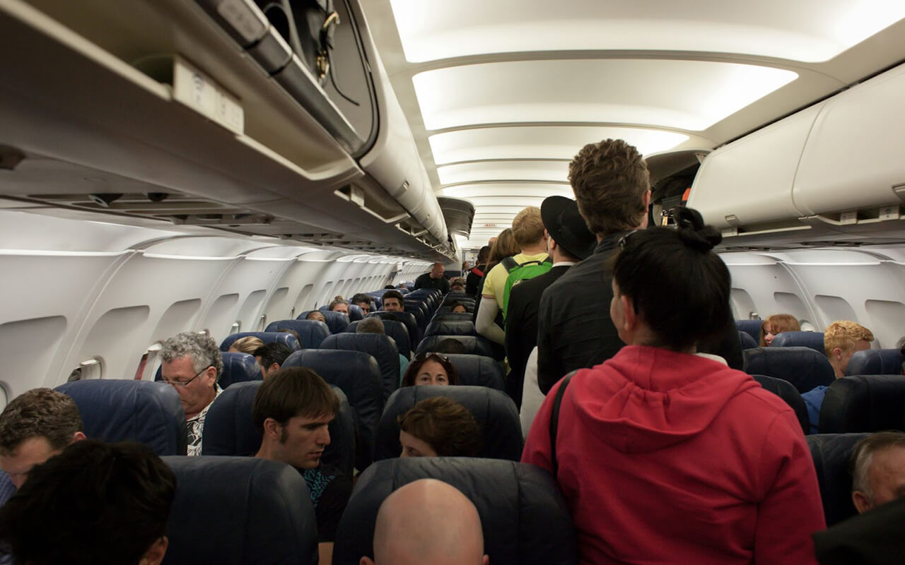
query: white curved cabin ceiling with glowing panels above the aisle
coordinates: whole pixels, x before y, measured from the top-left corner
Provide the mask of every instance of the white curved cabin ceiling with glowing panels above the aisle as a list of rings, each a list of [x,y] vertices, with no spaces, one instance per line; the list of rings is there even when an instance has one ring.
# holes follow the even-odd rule
[[[621,137],[713,148],[900,61],[891,0],[363,0],[438,195],[477,249]]]

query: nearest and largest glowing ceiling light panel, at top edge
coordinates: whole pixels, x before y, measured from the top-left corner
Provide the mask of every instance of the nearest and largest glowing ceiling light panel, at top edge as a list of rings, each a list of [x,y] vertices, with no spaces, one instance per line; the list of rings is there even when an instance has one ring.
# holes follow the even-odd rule
[[[410,62],[607,50],[741,53],[820,62],[905,17],[900,0],[567,0],[557,3],[555,11],[543,0],[390,4]]]

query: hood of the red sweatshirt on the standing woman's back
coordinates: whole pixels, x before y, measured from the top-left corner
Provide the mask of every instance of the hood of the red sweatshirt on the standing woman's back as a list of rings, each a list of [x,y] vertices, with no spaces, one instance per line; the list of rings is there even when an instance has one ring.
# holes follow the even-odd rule
[[[748,374],[706,357],[628,345],[578,372],[567,397],[601,441],[644,453],[699,434],[732,397],[759,387]]]

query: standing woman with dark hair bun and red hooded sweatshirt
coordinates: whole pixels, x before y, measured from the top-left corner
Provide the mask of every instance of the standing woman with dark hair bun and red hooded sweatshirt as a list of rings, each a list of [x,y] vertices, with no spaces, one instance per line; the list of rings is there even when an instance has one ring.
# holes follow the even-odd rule
[[[824,511],[801,425],[697,353],[729,318],[729,269],[719,231],[674,211],[677,230],[616,243],[610,315],[626,345],[554,385],[522,461],[557,477],[583,563],[814,563]]]

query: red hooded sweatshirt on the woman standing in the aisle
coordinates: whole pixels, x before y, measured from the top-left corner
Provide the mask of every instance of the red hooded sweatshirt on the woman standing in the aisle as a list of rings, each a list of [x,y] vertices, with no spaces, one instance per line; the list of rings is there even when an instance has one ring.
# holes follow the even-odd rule
[[[560,384],[522,454],[548,470]],[[816,563],[826,526],[801,425],[744,372],[626,346],[572,377],[558,426],[582,563]]]

